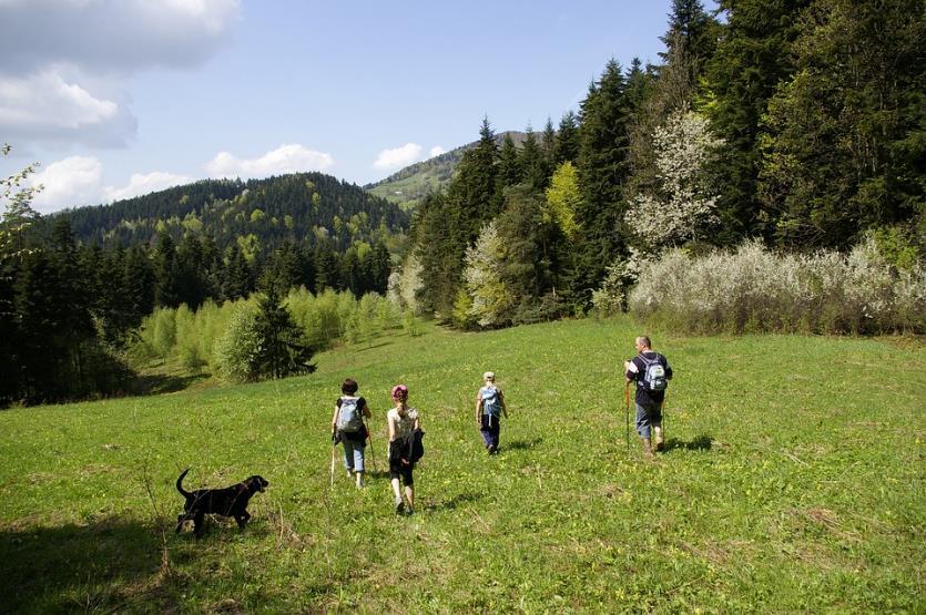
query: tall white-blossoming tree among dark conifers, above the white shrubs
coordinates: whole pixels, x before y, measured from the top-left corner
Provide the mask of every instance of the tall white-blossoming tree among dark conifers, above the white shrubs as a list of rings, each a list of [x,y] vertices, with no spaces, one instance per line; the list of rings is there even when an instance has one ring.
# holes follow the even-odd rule
[[[686,109],[653,131],[658,187],[634,196],[624,217],[640,252],[698,239],[715,222],[716,196],[706,194],[704,168],[721,143],[708,120]]]

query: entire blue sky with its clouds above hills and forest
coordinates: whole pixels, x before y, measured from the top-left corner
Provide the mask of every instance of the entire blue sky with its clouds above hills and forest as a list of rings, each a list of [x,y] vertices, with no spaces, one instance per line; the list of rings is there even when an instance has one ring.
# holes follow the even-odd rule
[[[670,0],[0,0],[3,176],[47,213],[204,177],[365,184],[658,61]],[[708,2],[709,8],[713,4]]]

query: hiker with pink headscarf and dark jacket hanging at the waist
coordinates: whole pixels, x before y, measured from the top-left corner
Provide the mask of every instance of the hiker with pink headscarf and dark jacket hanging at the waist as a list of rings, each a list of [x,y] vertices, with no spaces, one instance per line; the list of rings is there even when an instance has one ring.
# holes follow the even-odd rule
[[[386,413],[389,427],[389,481],[395,495],[396,514],[415,510],[415,476],[411,475],[425,450],[421,445],[421,419],[418,410],[408,406],[408,387],[396,385],[391,391],[395,408]],[[406,506],[401,499],[399,479],[405,483]]]

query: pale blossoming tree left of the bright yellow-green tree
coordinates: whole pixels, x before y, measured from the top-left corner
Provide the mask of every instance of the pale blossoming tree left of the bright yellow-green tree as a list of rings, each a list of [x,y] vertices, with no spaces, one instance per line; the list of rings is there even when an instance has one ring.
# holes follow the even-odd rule
[[[512,308],[511,294],[501,279],[503,250],[495,221],[482,227],[466,250],[464,280],[472,300],[468,312],[480,327],[503,325]]]

